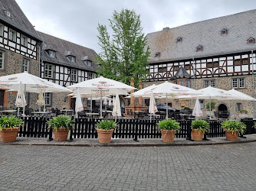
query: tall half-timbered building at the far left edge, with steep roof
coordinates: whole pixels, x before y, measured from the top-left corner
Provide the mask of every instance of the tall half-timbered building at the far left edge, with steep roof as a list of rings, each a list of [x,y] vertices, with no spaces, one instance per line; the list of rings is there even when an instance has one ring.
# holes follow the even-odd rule
[[[0,1],[0,76],[27,71],[38,76],[41,39],[15,0]],[[15,93],[1,89],[0,105],[15,103]],[[27,102],[36,106],[36,94],[27,93]]]

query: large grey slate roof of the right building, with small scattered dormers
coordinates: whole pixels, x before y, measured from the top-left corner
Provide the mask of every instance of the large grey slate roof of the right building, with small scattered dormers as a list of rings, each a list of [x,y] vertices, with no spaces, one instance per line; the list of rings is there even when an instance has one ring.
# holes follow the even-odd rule
[[[221,34],[224,28],[228,34]],[[176,41],[178,37],[182,37],[182,42]],[[249,37],[256,39],[256,9],[177,28],[165,28],[147,34],[151,51],[149,63],[256,50],[256,44],[248,44]],[[196,51],[199,45],[202,51]],[[155,57],[156,52],[160,53],[160,57]]]

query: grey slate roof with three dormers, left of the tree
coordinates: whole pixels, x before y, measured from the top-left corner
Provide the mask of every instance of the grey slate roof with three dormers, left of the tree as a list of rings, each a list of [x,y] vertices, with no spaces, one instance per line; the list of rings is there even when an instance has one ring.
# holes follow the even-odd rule
[[[94,63],[94,60],[96,57],[98,57],[98,55],[94,50],[71,43],[61,38],[53,37],[49,34],[44,34],[40,31],[38,31],[38,34],[43,40],[41,57],[44,61],[49,63],[57,63],[63,66],[71,66],[77,69],[88,70],[92,72],[97,70],[97,66]],[[46,50],[56,51],[56,57],[49,57]],[[76,63],[72,63],[67,60],[67,56],[69,55],[76,57]],[[85,59],[92,61],[92,66],[85,65],[83,61]]]

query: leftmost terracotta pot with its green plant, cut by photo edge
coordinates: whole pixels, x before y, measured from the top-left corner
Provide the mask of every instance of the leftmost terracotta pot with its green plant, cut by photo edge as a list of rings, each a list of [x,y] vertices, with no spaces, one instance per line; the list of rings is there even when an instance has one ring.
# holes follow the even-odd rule
[[[15,116],[3,116],[0,118],[0,138],[2,142],[8,143],[16,140],[18,130],[23,121]]]

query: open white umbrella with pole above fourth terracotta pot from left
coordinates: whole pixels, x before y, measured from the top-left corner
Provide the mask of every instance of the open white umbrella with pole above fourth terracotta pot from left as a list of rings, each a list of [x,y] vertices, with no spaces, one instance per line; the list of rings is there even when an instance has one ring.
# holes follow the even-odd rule
[[[178,95],[199,95],[200,92],[185,86],[179,86],[175,83],[161,83],[156,88],[152,89],[154,95],[166,96],[166,118],[168,118],[168,96],[178,96]]]

